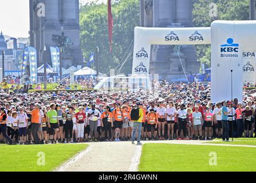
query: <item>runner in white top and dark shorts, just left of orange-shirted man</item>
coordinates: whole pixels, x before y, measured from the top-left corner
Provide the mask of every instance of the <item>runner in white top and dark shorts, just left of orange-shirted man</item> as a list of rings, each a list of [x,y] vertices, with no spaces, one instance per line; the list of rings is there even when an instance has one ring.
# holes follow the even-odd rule
[[[19,128],[19,141],[21,145],[26,143],[27,128],[29,127],[27,119],[28,119],[27,114],[23,112],[22,108],[19,108],[18,128]]]

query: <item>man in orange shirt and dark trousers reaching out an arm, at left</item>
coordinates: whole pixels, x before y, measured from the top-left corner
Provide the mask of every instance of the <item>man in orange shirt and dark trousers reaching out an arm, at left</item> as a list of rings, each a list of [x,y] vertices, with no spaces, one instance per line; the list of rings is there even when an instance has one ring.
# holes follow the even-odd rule
[[[31,114],[31,132],[35,144],[39,144],[38,130],[40,128],[40,105],[36,104],[35,109],[32,111],[27,111],[27,114]]]

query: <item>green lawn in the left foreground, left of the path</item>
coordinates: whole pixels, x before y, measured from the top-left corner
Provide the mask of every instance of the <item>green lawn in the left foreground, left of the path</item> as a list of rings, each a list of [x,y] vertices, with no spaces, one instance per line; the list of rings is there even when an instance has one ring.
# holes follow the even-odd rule
[[[0,145],[1,172],[48,172],[84,150],[85,144]],[[40,153],[38,153],[40,152]],[[45,165],[42,153],[45,154]],[[38,165],[38,162],[40,165]]]

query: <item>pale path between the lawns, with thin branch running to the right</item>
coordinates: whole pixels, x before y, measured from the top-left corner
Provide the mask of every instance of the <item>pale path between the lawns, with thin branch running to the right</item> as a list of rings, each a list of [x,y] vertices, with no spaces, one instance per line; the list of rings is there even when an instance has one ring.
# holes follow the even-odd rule
[[[256,148],[253,145],[207,144],[206,141],[142,141],[143,144],[187,144],[213,146],[243,146]],[[131,142],[96,142],[88,143],[89,147],[68,162],[56,169],[57,172],[136,172],[139,165],[142,146]]]

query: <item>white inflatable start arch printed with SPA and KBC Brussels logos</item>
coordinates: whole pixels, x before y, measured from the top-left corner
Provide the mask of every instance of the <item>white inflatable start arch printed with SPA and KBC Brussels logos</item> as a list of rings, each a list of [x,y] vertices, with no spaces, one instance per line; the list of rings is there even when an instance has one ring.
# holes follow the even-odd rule
[[[211,27],[135,27],[132,74],[149,74],[151,45],[211,44],[211,100],[231,100],[233,70],[233,98],[242,101],[243,54],[254,55],[255,43],[256,21],[214,21]]]

